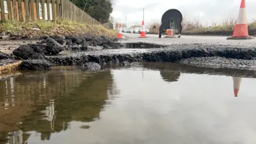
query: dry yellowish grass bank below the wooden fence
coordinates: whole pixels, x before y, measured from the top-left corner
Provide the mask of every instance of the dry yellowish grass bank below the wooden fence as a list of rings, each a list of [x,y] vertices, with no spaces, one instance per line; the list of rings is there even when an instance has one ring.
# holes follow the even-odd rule
[[[41,30],[32,30],[32,28],[40,28]],[[7,21],[2,23],[0,33],[17,34],[21,36],[45,36],[45,35],[81,35],[92,34],[115,37],[117,31],[107,29],[101,25],[88,25],[86,23],[78,23],[74,21],[58,21],[53,23],[51,21]]]

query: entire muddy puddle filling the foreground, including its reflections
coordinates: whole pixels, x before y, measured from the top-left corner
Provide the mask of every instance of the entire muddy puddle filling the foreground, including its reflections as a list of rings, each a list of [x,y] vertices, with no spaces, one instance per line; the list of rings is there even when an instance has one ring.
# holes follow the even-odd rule
[[[255,143],[255,87],[172,63],[22,71],[0,81],[0,143]]]

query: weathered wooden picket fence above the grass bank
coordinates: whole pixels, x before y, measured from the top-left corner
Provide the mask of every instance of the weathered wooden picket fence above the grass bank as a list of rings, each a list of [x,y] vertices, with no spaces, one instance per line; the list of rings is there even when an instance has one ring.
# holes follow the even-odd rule
[[[69,0],[0,0],[0,13],[1,22],[61,19],[100,25]]]

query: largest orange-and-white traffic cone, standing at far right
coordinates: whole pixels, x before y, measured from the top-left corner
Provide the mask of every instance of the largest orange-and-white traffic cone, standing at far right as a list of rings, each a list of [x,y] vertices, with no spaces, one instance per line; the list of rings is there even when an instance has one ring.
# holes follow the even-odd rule
[[[242,0],[233,36],[228,37],[227,39],[252,39],[252,38],[253,37],[250,37],[248,34],[245,0]]]

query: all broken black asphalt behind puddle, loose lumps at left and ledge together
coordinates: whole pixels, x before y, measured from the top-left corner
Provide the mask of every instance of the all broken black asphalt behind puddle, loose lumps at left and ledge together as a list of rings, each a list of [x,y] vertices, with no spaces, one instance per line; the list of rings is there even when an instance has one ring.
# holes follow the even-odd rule
[[[87,62],[99,63],[119,63],[129,66],[129,62],[138,61],[166,61],[179,62],[193,66],[225,67],[238,69],[254,69],[254,59],[256,58],[256,48],[253,46],[234,46],[221,44],[180,44],[167,47],[138,50],[98,50],[77,52],[72,55],[61,55],[65,46],[54,39],[62,37],[47,37],[43,44],[21,45],[13,51],[15,57],[27,60],[26,65],[21,65],[21,69],[48,69],[48,67],[83,65]],[[90,46],[108,45],[115,47],[119,45],[115,38],[95,37],[95,36],[68,36],[69,45],[81,45],[83,50]],[[66,40],[65,40],[66,41]],[[62,43],[62,42],[61,42]],[[66,43],[66,45],[67,45]],[[124,44],[124,43],[123,43]],[[145,45],[144,43],[129,43],[131,47]],[[120,45],[119,45],[120,46]],[[151,45],[154,47],[154,45]],[[78,46],[79,47],[79,46]],[[117,46],[118,47],[118,46]],[[139,47],[138,47],[139,48]],[[143,48],[148,48],[147,46]],[[81,47],[79,48],[81,49]],[[204,58],[202,58],[204,57]],[[207,57],[207,58],[206,58]],[[209,58],[211,57],[211,58]],[[52,63],[51,65],[49,63]],[[23,62],[23,63],[24,63]],[[30,62],[30,63],[29,63]],[[28,64],[29,63],[29,64]],[[49,64],[49,65],[48,65]],[[85,69],[94,69],[95,65],[87,63]],[[35,65],[35,67],[33,67]],[[255,64],[256,65],[256,64]],[[26,66],[26,67],[25,67]]]

